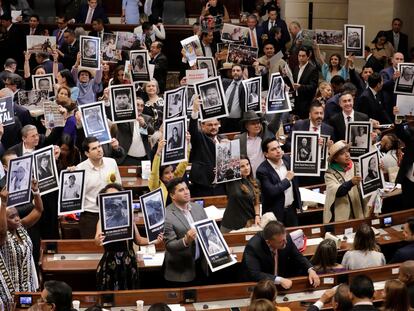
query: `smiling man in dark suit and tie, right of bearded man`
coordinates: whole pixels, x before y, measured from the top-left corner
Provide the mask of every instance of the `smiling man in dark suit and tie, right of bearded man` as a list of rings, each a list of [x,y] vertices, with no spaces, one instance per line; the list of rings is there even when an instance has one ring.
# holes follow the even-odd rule
[[[344,92],[339,97],[339,105],[342,111],[329,119],[329,124],[334,128],[335,141],[344,140],[346,125],[353,121],[369,121],[369,117],[354,110],[354,97],[351,92]]]

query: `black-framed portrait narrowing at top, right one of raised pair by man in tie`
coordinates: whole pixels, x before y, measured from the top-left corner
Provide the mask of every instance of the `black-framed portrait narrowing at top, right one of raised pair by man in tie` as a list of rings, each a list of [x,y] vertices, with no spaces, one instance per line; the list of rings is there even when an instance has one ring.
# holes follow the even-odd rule
[[[291,110],[289,95],[285,92],[285,82],[280,73],[273,73],[266,96],[266,113],[282,113]]]

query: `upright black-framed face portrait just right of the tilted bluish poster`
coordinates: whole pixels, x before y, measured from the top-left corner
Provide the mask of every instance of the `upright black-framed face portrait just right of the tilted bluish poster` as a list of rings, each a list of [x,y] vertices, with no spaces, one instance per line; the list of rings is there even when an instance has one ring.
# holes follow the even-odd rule
[[[135,86],[133,84],[112,85],[109,87],[112,122],[130,122],[137,116]]]

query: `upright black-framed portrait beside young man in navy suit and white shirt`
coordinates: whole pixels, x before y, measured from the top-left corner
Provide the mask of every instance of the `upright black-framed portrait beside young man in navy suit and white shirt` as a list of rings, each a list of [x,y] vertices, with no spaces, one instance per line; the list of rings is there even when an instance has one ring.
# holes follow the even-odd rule
[[[319,133],[293,131],[291,169],[296,176],[320,175]]]

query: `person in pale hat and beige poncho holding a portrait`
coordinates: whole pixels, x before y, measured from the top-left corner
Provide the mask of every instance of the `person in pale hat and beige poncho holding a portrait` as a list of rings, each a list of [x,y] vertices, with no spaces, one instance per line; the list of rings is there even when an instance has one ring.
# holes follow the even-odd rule
[[[332,145],[328,162],[323,222],[364,218],[368,212],[361,196],[361,176],[356,173],[349,145],[343,140]]]

